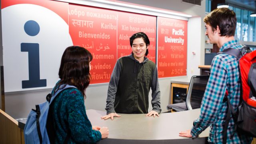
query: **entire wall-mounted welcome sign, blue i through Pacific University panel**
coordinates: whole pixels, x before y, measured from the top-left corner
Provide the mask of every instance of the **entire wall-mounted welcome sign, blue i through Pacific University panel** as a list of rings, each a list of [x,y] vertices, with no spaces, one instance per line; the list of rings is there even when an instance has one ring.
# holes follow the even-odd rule
[[[52,0],[2,0],[4,91],[53,88],[64,50],[93,56],[91,84],[109,82],[116,60],[129,55],[130,36],[150,39],[148,58],[159,77],[186,75],[187,22]]]

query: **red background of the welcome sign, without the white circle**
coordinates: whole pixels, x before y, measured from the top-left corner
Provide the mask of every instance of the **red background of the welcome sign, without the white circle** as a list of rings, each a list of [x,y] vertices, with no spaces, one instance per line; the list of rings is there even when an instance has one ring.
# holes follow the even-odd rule
[[[156,63],[156,16],[120,12],[104,8],[50,0],[4,1],[2,8],[14,4],[37,4],[61,16],[69,25],[73,45],[92,55],[91,84],[109,82],[116,60],[132,52],[130,36],[144,32],[150,39],[148,58]],[[158,17],[158,75],[186,75],[187,21]]]

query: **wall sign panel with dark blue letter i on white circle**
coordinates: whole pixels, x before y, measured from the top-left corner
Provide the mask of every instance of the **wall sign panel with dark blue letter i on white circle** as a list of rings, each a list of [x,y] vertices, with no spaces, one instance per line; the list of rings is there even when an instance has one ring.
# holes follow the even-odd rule
[[[2,0],[4,91],[53,88],[60,59],[73,45],[68,3]]]

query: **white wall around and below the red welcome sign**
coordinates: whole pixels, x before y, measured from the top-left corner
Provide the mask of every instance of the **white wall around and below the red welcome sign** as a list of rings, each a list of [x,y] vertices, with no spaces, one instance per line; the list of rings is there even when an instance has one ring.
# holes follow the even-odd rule
[[[181,80],[189,82],[192,75],[199,75],[198,65],[204,63],[204,23],[202,19],[205,14],[205,0],[202,0],[202,6],[195,6],[181,2],[181,0],[121,0],[124,2],[132,2],[184,12],[193,17],[188,20],[188,62],[187,76],[179,76],[172,78],[160,78],[161,91],[161,108],[162,112],[166,112],[166,106],[170,103],[170,81]],[[192,51],[196,54],[193,55]],[[2,55],[0,55],[2,58]],[[108,84],[93,84],[86,89],[86,109],[104,110],[106,106]],[[14,118],[26,118],[31,108],[35,108],[35,104],[45,102],[45,97],[51,89],[31,90],[24,92],[8,92],[5,96],[6,112]],[[151,92],[150,92],[151,97]],[[151,104],[149,110],[152,110]]]

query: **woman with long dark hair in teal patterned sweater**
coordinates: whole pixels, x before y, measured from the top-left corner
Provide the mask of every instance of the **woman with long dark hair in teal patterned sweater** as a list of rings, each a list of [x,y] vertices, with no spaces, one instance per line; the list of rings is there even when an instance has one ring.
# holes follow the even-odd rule
[[[80,46],[66,48],[62,55],[60,80],[52,95],[66,85],[50,106],[55,130],[54,143],[96,143],[108,137],[107,127],[92,126],[85,110],[85,90],[90,83],[92,54]]]

